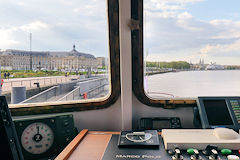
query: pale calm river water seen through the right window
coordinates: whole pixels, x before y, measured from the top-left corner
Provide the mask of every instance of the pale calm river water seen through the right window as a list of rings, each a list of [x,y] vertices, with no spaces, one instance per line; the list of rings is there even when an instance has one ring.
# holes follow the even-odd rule
[[[240,96],[240,70],[181,71],[145,77],[152,98]]]

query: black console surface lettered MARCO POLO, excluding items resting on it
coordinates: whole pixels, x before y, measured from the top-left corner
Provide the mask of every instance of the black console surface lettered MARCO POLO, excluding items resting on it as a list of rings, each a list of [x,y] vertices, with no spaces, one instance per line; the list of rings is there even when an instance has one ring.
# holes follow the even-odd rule
[[[159,135],[158,148],[122,148],[118,146],[119,135],[112,135],[103,160],[239,160],[237,150],[218,149],[217,146],[207,146],[204,150],[189,148],[181,150],[176,147],[173,150],[165,150],[163,139]]]

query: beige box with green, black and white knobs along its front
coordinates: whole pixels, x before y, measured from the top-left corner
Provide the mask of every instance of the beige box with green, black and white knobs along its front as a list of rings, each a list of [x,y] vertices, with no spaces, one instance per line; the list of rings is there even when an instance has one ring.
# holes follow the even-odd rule
[[[164,129],[161,136],[173,160],[239,160],[240,135],[232,129]]]

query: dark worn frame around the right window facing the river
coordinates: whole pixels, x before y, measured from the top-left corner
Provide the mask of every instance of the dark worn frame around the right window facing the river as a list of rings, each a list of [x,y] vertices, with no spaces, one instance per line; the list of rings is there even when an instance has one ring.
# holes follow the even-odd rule
[[[143,57],[143,0],[131,0],[131,21],[137,25],[131,31],[132,40],[132,90],[137,99],[145,105],[163,108],[196,106],[196,99],[152,99],[144,91]],[[138,71],[138,72],[136,72]]]

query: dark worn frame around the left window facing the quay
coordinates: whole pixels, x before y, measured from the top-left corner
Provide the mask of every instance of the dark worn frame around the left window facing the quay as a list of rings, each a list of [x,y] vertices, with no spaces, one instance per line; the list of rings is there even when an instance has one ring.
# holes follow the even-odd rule
[[[61,104],[49,102],[46,104],[29,103],[10,105],[13,116],[75,112],[104,109],[116,102],[120,95],[120,48],[119,48],[119,0],[107,0],[108,38],[110,59],[111,90],[108,98],[89,99],[86,102],[67,101]]]

